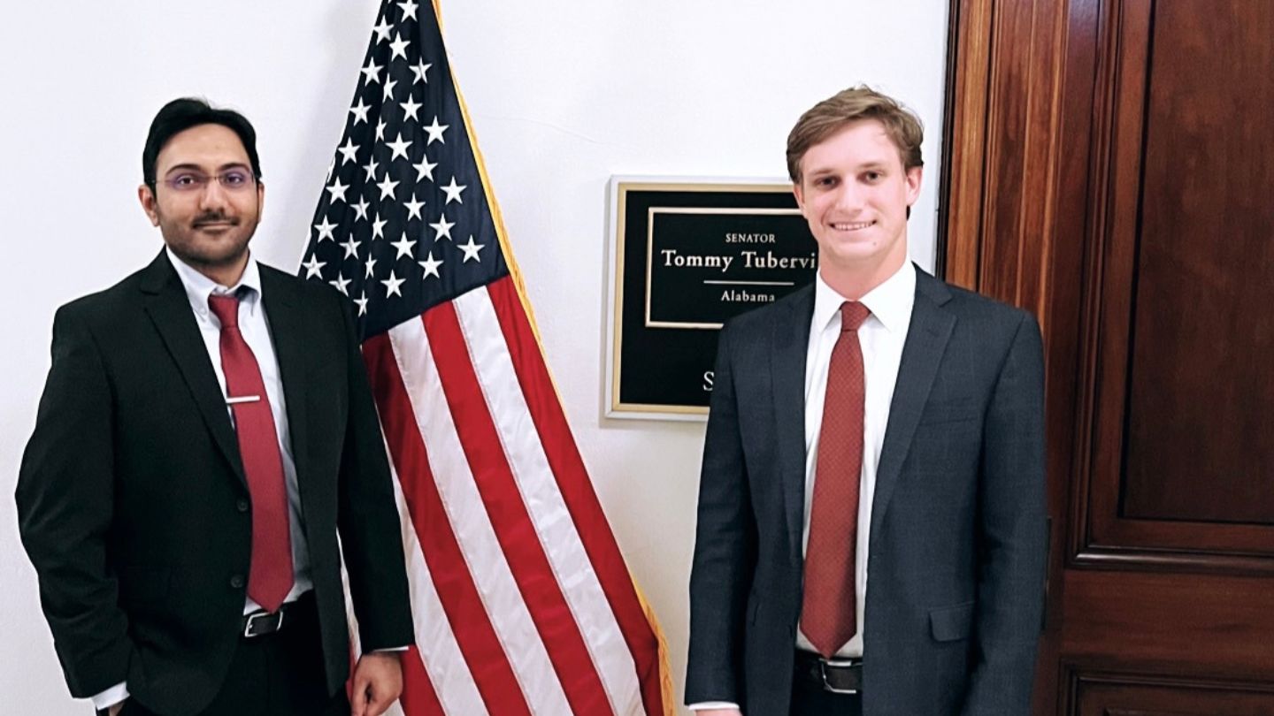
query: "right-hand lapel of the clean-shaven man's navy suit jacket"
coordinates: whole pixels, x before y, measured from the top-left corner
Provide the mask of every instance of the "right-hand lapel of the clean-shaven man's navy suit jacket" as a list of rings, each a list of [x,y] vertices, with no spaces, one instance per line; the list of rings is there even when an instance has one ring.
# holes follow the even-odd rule
[[[871,502],[873,535],[880,534],[889,498],[911,448],[911,438],[916,434],[943,352],[956,326],[956,317],[941,308],[948,301],[950,292],[947,285],[917,269],[916,303],[911,310],[911,327],[907,329],[907,341],[902,347],[898,381],[889,405],[889,424],[885,427],[880,462],[877,466],[875,497]]]

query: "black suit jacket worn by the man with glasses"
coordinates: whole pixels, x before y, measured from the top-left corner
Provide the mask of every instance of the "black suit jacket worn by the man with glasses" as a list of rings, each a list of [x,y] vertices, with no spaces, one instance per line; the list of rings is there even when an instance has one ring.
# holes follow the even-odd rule
[[[364,651],[413,641],[397,512],[345,301],[260,269],[334,693],[349,671],[341,550]],[[238,640],[248,497],[217,375],[163,252],[57,311],[17,502],[73,696],[127,682],[159,713],[210,702]]]

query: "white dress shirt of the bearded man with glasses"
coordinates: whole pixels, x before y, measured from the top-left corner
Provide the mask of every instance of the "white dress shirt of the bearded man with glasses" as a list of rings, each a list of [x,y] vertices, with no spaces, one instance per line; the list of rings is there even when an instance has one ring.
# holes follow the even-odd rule
[[[173,255],[168,248],[168,261],[177,270],[181,285],[186,289],[186,298],[190,299],[190,308],[195,313],[195,322],[199,324],[199,334],[204,339],[204,348],[208,349],[208,358],[213,362],[213,371],[217,373],[217,383],[225,395],[225,372],[222,369],[222,324],[208,308],[208,297],[234,296],[240,298],[240,333],[243,340],[252,349],[257,366],[261,368],[261,380],[265,382],[265,394],[270,400],[270,413],[274,414],[274,431],[279,438],[279,456],[283,457],[283,476],[288,485],[288,531],[292,538],[292,591],[284,601],[294,601],[302,594],[313,587],[310,577],[310,549],[306,544],[306,534],[302,529],[301,517],[301,490],[297,487],[297,465],[292,459],[292,434],[288,432],[288,410],[283,397],[283,380],[279,376],[279,361],[274,353],[274,341],[270,339],[270,325],[265,313],[265,302],[261,297],[261,270],[256,260],[251,256],[243,276],[233,287],[224,287],[189,266]],[[234,413],[227,405],[225,410],[234,423]],[[251,598],[243,600],[243,613],[256,612],[261,606]],[[116,684],[110,689],[93,697],[93,706],[107,708],[129,697],[125,683]]]

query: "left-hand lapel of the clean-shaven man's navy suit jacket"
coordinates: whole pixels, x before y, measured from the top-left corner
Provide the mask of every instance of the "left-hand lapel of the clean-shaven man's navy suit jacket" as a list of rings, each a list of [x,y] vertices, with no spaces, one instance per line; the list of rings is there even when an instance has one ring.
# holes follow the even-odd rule
[[[805,353],[813,313],[814,287],[808,285],[794,293],[785,311],[775,316],[769,363],[789,554],[798,564],[805,511]]]

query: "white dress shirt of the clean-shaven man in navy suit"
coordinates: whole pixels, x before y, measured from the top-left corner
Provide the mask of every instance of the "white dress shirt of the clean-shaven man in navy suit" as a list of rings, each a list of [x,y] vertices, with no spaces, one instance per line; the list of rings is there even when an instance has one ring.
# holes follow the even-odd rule
[[[814,466],[818,462],[818,440],[823,427],[823,400],[827,396],[827,369],[832,362],[832,348],[841,335],[841,303],[848,301],[836,293],[823,280],[822,273],[814,279],[814,315],[809,326],[809,345],[805,352],[805,505],[801,524],[801,553],[809,541],[809,512],[814,499]],[[875,494],[877,465],[884,431],[889,424],[889,404],[893,387],[898,382],[902,347],[911,327],[911,310],[916,303],[916,269],[905,261],[892,276],[859,299],[871,311],[859,326],[859,345],[862,349],[864,414],[862,414],[862,471],[859,484],[859,534],[855,564],[855,591],[857,592],[857,629],[848,642],[836,651],[841,657],[862,656],[862,606],[868,595],[868,545],[871,530],[871,498]],[[796,647],[817,651],[809,638],[798,628]],[[692,711],[707,708],[738,708],[730,702],[692,703]]]

